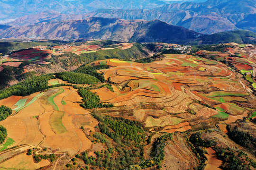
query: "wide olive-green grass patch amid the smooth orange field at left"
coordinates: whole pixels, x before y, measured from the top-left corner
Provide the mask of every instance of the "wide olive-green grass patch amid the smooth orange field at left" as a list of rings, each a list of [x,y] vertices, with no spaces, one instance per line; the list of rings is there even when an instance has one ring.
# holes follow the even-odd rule
[[[55,134],[62,134],[68,132],[66,127],[62,124],[62,118],[64,116],[64,111],[54,111],[49,119],[49,124]]]

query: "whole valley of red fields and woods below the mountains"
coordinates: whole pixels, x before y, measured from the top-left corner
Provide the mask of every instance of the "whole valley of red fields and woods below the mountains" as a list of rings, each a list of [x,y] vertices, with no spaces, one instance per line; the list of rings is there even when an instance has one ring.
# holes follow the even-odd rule
[[[255,50],[87,41],[12,51],[1,72],[36,74],[0,91],[12,110],[0,169],[253,170]]]

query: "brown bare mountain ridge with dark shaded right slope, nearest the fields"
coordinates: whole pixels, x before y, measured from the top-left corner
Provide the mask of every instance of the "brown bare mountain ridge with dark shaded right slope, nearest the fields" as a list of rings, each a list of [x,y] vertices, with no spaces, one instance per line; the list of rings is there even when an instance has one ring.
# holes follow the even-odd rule
[[[170,42],[209,44],[220,42],[256,43],[256,34],[249,31],[206,35],[173,26],[160,20],[124,20],[90,17],[82,20],[52,21],[36,25],[9,27],[0,25],[0,38],[113,40],[120,42]]]

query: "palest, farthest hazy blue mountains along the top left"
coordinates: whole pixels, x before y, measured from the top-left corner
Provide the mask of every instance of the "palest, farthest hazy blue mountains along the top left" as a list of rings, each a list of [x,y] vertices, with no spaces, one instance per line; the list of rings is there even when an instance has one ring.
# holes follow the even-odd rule
[[[0,18],[16,19],[48,10],[83,14],[101,8],[152,9],[165,4],[162,0],[0,0]]]

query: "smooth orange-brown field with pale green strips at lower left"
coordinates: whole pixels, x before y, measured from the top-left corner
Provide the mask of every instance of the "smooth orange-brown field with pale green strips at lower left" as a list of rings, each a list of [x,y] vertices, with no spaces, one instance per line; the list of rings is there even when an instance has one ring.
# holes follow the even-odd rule
[[[8,130],[8,139],[0,147],[1,151],[14,145],[27,147],[29,144],[38,148],[51,148],[55,150],[55,153],[66,152],[69,155],[75,155],[90,148],[91,141],[80,127],[84,126],[94,130],[97,121],[88,115],[89,111],[82,109],[76,103],[81,100],[81,97],[73,87],[52,88],[44,93],[34,93],[23,98],[17,97],[16,101],[11,102],[14,97],[0,101],[0,103],[9,102],[9,107],[13,108],[14,112],[16,111],[12,116],[0,122]],[[78,116],[80,116],[81,123],[73,121]],[[28,160],[33,160],[27,157]],[[33,166],[40,168],[49,164],[47,161],[44,162],[38,165],[32,165],[30,161],[20,162],[15,167],[22,168],[25,164],[26,166],[31,164],[33,169]],[[1,164],[0,167],[11,168],[7,162]]]

